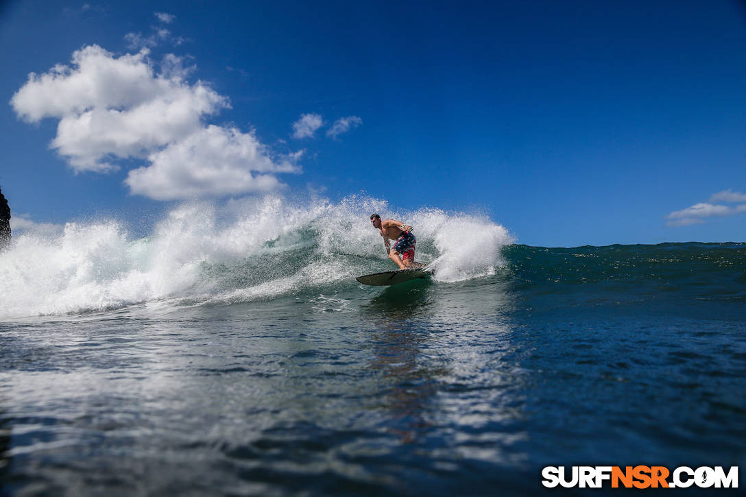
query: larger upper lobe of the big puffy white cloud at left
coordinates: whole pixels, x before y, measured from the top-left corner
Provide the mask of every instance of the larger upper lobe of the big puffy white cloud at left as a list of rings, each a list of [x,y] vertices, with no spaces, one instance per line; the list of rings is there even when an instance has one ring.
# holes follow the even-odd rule
[[[73,68],[32,74],[10,100],[23,119],[57,117],[51,143],[75,172],[115,169],[109,157],[144,157],[202,128],[201,119],[228,107],[228,99],[201,82],[155,75],[148,51],[115,58],[98,46],[73,54]],[[172,61],[173,63],[173,61]]]

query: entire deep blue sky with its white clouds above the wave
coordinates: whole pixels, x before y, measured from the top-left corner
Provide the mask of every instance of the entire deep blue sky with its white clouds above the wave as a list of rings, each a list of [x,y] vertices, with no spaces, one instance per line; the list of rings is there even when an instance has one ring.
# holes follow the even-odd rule
[[[10,1],[0,46],[27,223],[280,188],[530,245],[745,240],[743,2]]]

